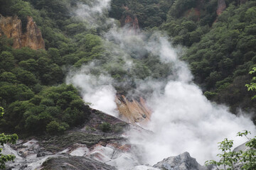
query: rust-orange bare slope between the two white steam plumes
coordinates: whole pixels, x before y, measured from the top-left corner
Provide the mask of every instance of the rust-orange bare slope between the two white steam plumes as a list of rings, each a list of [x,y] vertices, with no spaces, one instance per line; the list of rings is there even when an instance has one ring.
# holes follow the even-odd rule
[[[120,117],[123,120],[127,120],[129,123],[141,123],[146,124],[151,117],[151,111],[146,106],[146,103],[142,97],[139,100],[128,101],[125,96],[118,96],[116,98],[117,108],[120,113]]]

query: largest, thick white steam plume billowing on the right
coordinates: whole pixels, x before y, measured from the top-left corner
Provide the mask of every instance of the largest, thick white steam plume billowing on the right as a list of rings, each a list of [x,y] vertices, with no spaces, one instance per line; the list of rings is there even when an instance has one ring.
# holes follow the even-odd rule
[[[155,89],[154,94],[147,98],[153,113],[146,128],[154,135],[146,138],[137,134],[133,136],[132,142],[145,147],[147,162],[156,164],[166,157],[189,152],[203,164],[215,158],[217,143],[225,137],[235,140],[238,146],[246,139],[235,137],[237,132],[251,130],[255,134],[255,125],[250,118],[238,118],[229,113],[227,107],[210,103],[201,89],[191,82],[191,72],[184,62],[178,60],[175,49],[166,39],[160,39],[159,57],[164,59],[163,62],[174,62],[176,78],[167,82],[164,92]]]

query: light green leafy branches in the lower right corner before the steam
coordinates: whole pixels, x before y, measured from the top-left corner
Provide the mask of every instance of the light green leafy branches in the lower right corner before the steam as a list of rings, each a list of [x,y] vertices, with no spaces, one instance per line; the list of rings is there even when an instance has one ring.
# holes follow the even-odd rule
[[[245,136],[250,134],[247,130],[244,132],[238,132],[237,136]],[[235,165],[240,166],[240,169],[255,169],[256,168],[256,137],[247,137],[248,142],[245,144],[249,149],[245,151],[231,151],[233,147],[233,140],[228,140],[225,138],[223,142],[218,142],[221,153],[217,156],[220,157],[220,161],[216,162],[214,160],[207,161],[205,164],[214,165],[217,169],[224,167],[224,170],[234,170]]]

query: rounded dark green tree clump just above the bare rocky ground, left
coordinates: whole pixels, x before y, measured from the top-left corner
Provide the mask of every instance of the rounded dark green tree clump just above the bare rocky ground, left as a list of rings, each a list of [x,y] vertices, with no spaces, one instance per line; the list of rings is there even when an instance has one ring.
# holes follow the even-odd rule
[[[23,114],[25,128],[31,133],[48,132],[57,134],[69,127],[80,125],[88,115],[88,108],[78,91],[69,85],[53,86],[43,89],[29,103],[35,106],[26,109]],[[55,129],[55,126],[59,128]]]

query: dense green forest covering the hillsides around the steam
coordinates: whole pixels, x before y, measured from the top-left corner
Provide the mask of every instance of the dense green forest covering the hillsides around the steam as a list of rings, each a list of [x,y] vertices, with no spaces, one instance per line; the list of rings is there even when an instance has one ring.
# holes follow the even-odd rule
[[[82,124],[90,108],[78,89],[65,84],[70,67],[97,61],[95,74],[107,72],[118,82],[129,79],[128,84],[115,87],[121,94],[135,88],[134,79],[166,79],[171,66],[160,65],[149,52],[140,58],[130,52],[127,57],[135,66],[126,70],[120,54],[127,52],[106,50],[114,44],[102,38],[111,27],[105,21],[111,17],[122,26],[127,15],[138,19],[144,33],[160,30],[174,45],[183,45],[182,60],[188,62],[194,81],[210,101],[227,104],[233,113],[238,108],[255,113],[255,91],[247,91],[245,84],[255,76],[248,73],[256,67],[256,1],[228,0],[225,11],[217,16],[217,0],[113,0],[110,10],[96,18],[100,27],[70,10],[92,2],[0,0],[1,15],[18,16],[23,32],[27,16],[32,16],[46,44],[46,50],[14,49],[12,40],[1,36],[0,106],[5,111],[1,132],[55,134]]]

